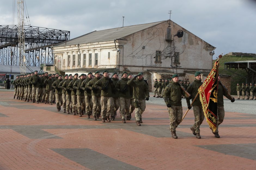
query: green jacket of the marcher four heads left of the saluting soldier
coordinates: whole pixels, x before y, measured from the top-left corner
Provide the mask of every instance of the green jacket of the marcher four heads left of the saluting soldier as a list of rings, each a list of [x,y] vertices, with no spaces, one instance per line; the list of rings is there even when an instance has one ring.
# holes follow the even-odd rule
[[[102,79],[99,79],[95,84],[94,87],[101,90],[100,96],[105,97],[112,97],[112,90],[115,88],[114,83],[109,83],[108,77],[103,77]],[[102,90],[102,88],[107,88],[105,90]]]

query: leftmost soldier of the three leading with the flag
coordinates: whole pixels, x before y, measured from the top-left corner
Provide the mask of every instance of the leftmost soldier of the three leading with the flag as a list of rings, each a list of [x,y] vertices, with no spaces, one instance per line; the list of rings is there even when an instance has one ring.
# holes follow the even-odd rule
[[[174,74],[172,76],[172,82],[164,89],[164,102],[168,108],[170,117],[170,131],[172,138],[177,139],[176,127],[181,123],[182,120],[182,105],[181,95],[188,97],[185,92],[181,89],[179,82],[179,75]]]

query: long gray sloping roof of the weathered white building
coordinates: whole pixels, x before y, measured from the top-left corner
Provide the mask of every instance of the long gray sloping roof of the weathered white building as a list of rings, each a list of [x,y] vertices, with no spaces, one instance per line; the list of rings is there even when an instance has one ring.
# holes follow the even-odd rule
[[[148,23],[148,24],[140,24],[140,25],[132,25],[132,26],[127,26],[127,27],[112,28],[112,29],[101,30],[101,31],[93,31],[91,33],[84,34],[80,37],[76,37],[69,41],[57,44],[57,45],[55,45],[55,47],[121,39],[123,37],[129,36],[130,34],[136,33],[141,30],[145,30],[146,28],[155,26],[155,25],[163,23],[163,22],[165,22],[165,21],[160,21],[160,22],[156,22],[156,23]]]

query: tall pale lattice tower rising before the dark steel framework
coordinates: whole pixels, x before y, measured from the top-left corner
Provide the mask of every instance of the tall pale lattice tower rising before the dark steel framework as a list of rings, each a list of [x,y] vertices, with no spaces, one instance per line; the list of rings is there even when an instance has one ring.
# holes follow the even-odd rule
[[[26,57],[25,57],[25,35],[24,35],[24,3],[23,0],[17,0],[18,6],[18,33],[19,33],[19,61],[20,74],[26,73]]]

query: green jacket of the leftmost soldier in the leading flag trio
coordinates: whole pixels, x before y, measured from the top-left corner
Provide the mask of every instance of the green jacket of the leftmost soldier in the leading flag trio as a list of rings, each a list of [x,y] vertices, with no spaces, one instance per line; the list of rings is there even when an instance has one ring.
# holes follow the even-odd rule
[[[188,97],[187,94],[181,89],[178,82],[170,82],[164,89],[163,98],[165,104],[174,106],[181,106],[181,95]]]

